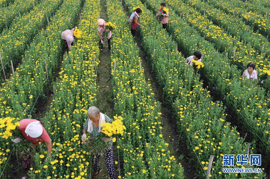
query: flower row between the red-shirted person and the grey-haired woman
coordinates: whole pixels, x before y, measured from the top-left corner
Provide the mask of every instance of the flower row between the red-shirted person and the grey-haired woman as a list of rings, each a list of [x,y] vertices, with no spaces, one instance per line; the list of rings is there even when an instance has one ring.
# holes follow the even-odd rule
[[[72,8],[72,1],[68,8]],[[91,155],[81,142],[81,135],[87,109],[96,105],[99,90],[93,56],[98,67],[97,19],[100,11],[99,1],[84,3],[78,25],[82,34],[68,55],[64,55],[59,77],[53,85],[49,111],[41,119],[50,132],[53,154],[48,158],[44,146],[35,155],[35,169],[29,172],[31,178],[83,179],[90,176]]]

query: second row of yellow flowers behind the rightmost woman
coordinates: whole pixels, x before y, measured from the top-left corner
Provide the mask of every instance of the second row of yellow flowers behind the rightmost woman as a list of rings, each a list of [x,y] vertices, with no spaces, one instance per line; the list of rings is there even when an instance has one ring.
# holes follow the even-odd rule
[[[185,3],[190,4],[190,6],[196,8],[196,10],[199,10],[201,14],[205,14],[205,16],[207,16],[208,19],[211,19],[215,25],[227,30],[227,32],[232,34],[232,36],[236,36],[242,41],[250,42],[255,48],[255,51],[257,51],[259,54],[263,52],[261,56],[268,57],[270,55],[270,45],[268,39],[259,33],[254,33],[253,29],[245,25],[243,21],[239,20],[238,18],[232,18],[232,15],[228,15],[222,10],[214,8],[209,3],[197,0],[191,1],[191,3],[190,1],[185,1]]]

